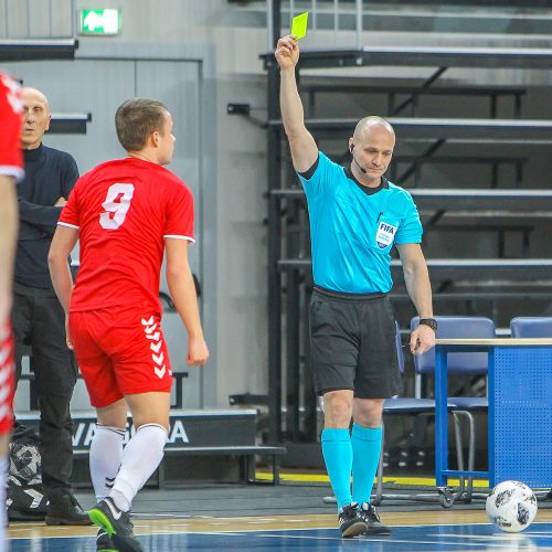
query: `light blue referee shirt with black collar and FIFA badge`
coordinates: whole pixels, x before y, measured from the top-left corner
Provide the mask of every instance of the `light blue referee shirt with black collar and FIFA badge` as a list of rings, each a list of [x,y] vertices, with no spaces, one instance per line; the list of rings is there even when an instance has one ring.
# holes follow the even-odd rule
[[[299,174],[310,217],[315,284],[349,294],[388,293],[393,244],[421,243],[412,195],[383,180],[370,193],[322,152],[310,179]]]

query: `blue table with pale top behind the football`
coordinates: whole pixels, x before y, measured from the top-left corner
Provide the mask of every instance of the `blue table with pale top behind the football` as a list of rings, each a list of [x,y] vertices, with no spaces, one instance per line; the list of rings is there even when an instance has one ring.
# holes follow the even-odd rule
[[[488,471],[448,469],[447,354],[489,355]],[[521,480],[552,488],[552,339],[437,339],[435,346],[435,476]]]

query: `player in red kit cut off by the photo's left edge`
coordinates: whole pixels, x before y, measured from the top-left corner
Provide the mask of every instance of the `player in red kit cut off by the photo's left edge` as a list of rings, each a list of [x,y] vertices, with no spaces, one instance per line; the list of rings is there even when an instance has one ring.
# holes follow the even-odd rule
[[[9,443],[13,425],[13,339],[12,305],[13,258],[18,237],[15,181],[23,176],[19,149],[21,100],[19,85],[0,73],[0,505],[6,505],[6,477]],[[0,507],[0,552],[6,550],[6,508]]]

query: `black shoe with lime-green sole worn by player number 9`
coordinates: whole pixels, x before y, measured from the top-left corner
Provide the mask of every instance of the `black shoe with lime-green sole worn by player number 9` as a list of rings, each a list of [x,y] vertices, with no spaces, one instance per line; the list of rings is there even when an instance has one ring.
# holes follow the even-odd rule
[[[89,512],[93,523],[112,538],[119,552],[144,552],[141,544],[135,539],[130,514],[119,510],[110,498],[100,500]]]

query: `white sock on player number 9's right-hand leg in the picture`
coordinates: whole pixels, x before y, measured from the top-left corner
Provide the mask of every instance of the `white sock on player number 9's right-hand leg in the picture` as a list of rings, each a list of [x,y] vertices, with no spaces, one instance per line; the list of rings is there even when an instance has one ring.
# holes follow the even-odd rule
[[[119,510],[130,510],[134,498],[161,463],[166,442],[167,429],[159,424],[141,425],[128,442],[109,492]]]

